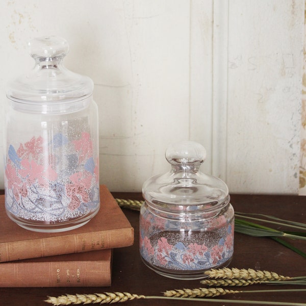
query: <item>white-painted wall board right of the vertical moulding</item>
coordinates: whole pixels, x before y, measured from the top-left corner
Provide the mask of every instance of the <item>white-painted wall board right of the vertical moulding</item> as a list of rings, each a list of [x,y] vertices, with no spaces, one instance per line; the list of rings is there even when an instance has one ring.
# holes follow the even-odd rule
[[[226,180],[297,194],[304,2],[229,4]]]

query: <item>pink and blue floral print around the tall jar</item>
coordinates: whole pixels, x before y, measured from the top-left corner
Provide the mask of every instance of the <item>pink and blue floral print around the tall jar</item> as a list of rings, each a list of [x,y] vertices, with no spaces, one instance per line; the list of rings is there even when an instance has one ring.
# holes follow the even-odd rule
[[[98,169],[89,133],[70,142],[62,134],[53,141],[32,137],[17,150],[9,145],[6,208],[16,216],[44,221],[82,215],[99,203]]]

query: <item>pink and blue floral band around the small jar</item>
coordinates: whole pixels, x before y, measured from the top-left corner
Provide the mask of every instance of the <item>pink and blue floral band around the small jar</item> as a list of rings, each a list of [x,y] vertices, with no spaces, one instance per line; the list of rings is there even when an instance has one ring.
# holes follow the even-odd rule
[[[220,218],[212,221],[213,236],[205,236],[206,232],[201,237],[200,223],[185,224],[189,227],[189,235],[185,236],[172,230],[180,228],[179,224],[174,224],[177,221],[158,218],[148,210],[143,211],[140,214],[140,253],[150,265],[173,270],[207,270],[232,258],[234,219],[226,221],[225,218]],[[163,220],[163,227],[160,220]],[[219,237],[218,240],[215,237]]]

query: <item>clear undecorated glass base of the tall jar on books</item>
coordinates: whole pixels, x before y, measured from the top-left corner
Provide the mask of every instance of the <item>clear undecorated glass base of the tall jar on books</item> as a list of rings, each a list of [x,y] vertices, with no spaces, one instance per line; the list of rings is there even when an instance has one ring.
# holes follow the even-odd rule
[[[99,208],[89,213],[86,217],[75,218],[66,222],[47,222],[47,221],[29,221],[22,218],[16,218],[7,211],[8,217],[16,224],[25,228],[25,230],[41,233],[59,233],[74,230],[88,223],[99,211]]]

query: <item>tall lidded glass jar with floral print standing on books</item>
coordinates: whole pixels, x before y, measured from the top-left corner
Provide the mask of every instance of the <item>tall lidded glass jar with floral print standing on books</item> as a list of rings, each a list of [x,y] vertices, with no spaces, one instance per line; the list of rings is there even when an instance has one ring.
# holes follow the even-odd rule
[[[65,39],[41,37],[29,46],[35,67],[7,90],[6,211],[28,230],[72,230],[100,205],[93,82],[63,66]]]

